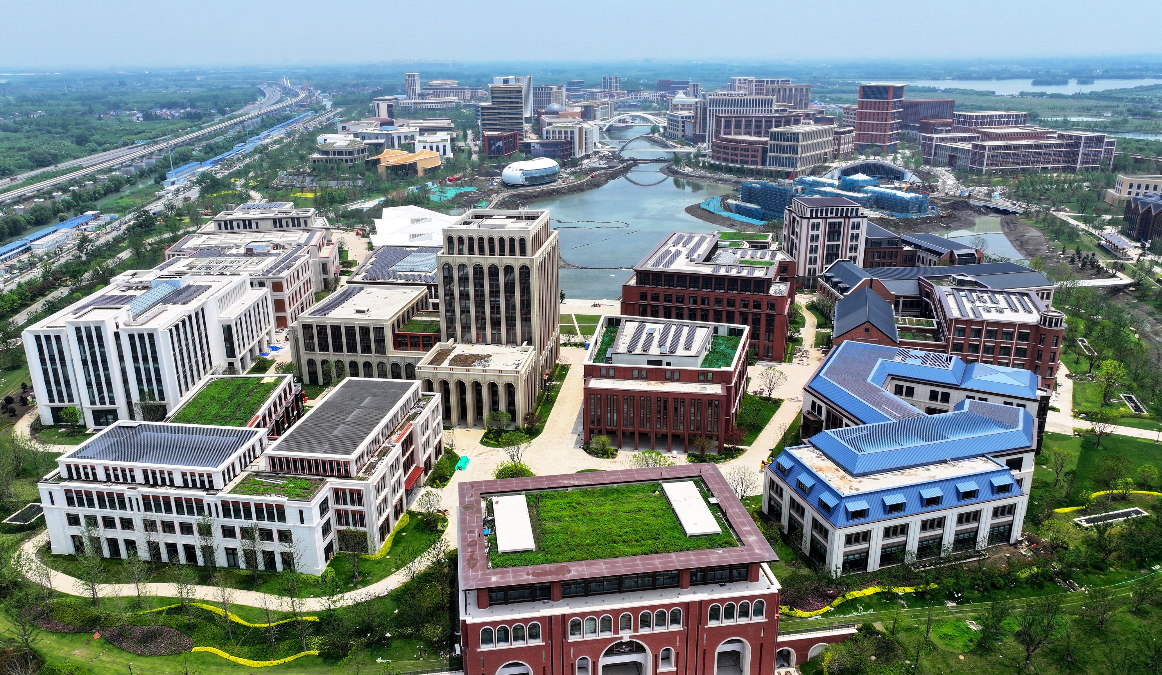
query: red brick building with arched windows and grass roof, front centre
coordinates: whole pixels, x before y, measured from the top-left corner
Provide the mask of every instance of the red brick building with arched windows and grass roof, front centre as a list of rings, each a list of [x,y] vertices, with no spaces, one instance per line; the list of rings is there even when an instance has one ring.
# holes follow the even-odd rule
[[[651,525],[679,537],[623,558],[593,559],[608,553],[590,541],[558,550],[543,500],[582,490],[595,508],[660,507]],[[458,505],[465,675],[770,675],[854,631],[780,644],[777,558],[712,464],[465,482]]]

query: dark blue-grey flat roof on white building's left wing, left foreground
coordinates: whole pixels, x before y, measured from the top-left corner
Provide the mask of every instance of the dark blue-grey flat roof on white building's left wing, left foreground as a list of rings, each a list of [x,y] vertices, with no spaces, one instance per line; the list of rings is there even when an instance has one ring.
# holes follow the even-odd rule
[[[265,435],[261,429],[122,421],[60,459],[217,468]]]

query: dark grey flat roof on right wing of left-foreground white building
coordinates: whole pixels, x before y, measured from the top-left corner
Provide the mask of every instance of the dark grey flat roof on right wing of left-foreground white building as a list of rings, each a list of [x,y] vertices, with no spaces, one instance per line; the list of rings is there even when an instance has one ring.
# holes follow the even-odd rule
[[[415,380],[347,378],[270,447],[272,452],[349,457],[380,428]],[[357,469],[358,467],[353,467]]]

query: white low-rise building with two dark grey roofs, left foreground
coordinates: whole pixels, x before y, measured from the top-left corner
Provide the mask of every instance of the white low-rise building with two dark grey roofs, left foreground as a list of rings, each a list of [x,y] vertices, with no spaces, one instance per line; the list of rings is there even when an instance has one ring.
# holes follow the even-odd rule
[[[38,483],[51,551],[321,574],[340,548],[382,546],[443,453],[439,408],[416,382],[349,379],[273,444],[114,423]]]

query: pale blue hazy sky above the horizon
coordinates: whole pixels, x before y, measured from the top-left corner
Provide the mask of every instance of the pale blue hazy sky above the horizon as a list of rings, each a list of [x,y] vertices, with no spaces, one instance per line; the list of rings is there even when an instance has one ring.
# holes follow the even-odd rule
[[[1140,53],[1082,0],[3,0],[0,71],[584,60],[996,59]],[[1162,49],[1154,49],[1159,52]]]

